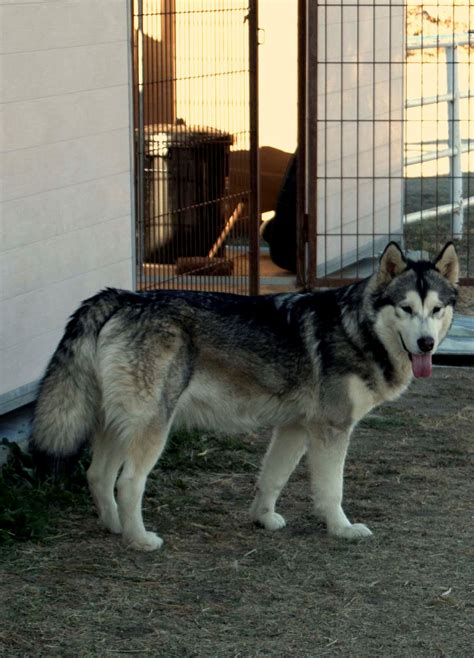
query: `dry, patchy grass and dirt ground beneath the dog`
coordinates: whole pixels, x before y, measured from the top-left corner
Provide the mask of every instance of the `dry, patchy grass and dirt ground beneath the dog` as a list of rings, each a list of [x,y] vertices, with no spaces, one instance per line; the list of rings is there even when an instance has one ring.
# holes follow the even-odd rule
[[[288,527],[246,509],[266,441],[175,439],[147,489],[160,552],[124,550],[90,503],[2,549],[2,656],[449,656],[474,652],[474,370],[435,368],[357,428],[328,538],[302,464]]]

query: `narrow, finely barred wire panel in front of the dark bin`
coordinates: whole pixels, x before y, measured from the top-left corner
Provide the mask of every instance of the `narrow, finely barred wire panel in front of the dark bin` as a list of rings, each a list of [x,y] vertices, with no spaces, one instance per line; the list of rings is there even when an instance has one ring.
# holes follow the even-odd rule
[[[238,0],[133,2],[139,289],[255,284],[249,14]]]

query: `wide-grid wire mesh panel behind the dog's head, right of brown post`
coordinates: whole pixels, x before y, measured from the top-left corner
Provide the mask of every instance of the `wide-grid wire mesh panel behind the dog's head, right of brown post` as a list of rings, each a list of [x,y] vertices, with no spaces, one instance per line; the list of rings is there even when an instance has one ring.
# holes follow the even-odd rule
[[[390,240],[434,256],[450,239],[474,283],[472,12],[458,0],[309,4],[313,284],[370,274]]]

